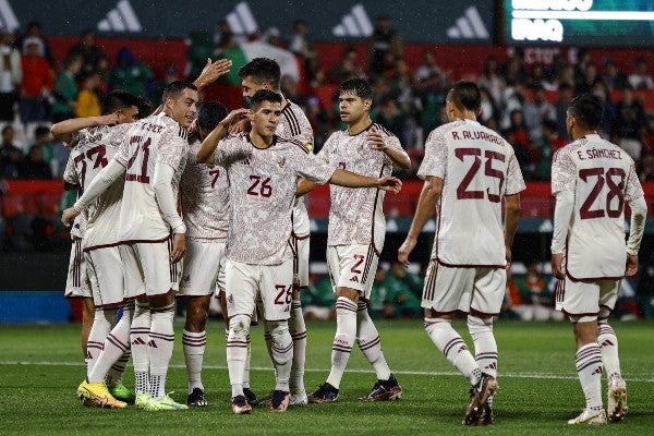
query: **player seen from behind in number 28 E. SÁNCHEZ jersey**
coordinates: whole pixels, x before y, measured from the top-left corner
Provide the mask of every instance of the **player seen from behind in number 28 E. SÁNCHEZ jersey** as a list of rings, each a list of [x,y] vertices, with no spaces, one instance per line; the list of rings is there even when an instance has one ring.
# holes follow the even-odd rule
[[[608,324],[623,276],[638,272],[638,250],[647,205],[633,160],[597,134],[604,102],[583,94],[566,117],[571,144],[554,155],[552,193],[556,196],[552,271],[560,280],[557,308],[571,320],[577,373],[585,409],[568,424],[606,424],[602,370],[608,383],[608,419],[627,414],[627,385],[620,373],[618,338]],[[625,244],[625,203],[631,207]]]

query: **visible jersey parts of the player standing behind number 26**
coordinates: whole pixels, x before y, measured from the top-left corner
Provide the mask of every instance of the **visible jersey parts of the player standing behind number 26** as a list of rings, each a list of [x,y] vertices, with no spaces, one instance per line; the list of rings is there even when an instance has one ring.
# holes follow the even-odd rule
[[[295,140],[313,152],[314,136],[313,129],[308,119],[300,106],[287,100],[287,105],[281,109],[279,123],[277,124],[277,136],[287,140]],[[306,237],[310,230],[308,213],[304,204],[304,196],[295,198],[293,205],[293,233],[295,237]]]

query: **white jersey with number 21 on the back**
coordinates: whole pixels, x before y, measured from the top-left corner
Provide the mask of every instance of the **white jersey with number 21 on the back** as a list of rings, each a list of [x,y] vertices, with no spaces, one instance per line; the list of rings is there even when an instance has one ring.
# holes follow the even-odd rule
[[[155,165],[174,169],[173,195],[186,165],[187,132],[166,113],[148,117],[132,124],[116,159],[126,168],[120,211],[121,242],[164,241],[170,226],[164,219],[155,197]]]

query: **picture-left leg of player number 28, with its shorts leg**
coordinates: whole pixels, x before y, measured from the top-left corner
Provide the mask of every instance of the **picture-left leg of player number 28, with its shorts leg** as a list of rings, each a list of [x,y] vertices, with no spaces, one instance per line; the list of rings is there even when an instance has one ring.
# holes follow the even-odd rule
[[[606,424],[602,402],[602,350],[597,343],[598,301],[597,282],[584,283],[566,278],[562,308],[573,323],[574,361],[585,397],[585,409],[568,424]]]

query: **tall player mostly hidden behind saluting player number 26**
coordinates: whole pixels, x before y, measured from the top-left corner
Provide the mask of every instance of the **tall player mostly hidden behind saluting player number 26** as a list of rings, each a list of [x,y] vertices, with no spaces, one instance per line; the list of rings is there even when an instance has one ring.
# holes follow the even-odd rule
[[[279,88],[281,72],[279,64],[267,58],[256,58],[239,70],[242,80],[243,97],[250,100],[259,89],[269,89],[281,96],[281,117],[277,124],[277,136],[301,142],[313,150],[313,129],[300,106],[288,100]],[[301,153],[300,156],[304,156]],[[291,367],[291,405],[307,403],[304,389],[304,361],[306,355],[306,326],[302,315],[300,291],[308,287],[310,220],[304,197],[295,198],[293,204],[293,231],[289,244],[293,252],[293,300],[289,330],[293,338],[293,364]],[[270,332],[266,326],[266,343],[270,351]]]

